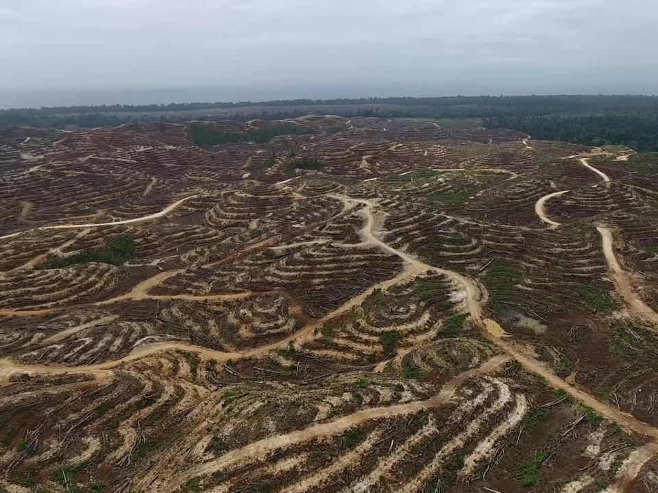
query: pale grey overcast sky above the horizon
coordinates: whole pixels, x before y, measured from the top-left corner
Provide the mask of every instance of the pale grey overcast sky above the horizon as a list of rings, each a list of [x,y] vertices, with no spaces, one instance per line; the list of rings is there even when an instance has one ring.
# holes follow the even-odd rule
[[[655,94],[650,0],[0,0],[0,108]]]

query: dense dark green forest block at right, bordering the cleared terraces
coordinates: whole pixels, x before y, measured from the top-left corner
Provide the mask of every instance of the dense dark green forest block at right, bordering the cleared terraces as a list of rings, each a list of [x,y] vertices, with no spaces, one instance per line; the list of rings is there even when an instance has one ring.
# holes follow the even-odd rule
[[[586,145],[625,145],[639,152],[658,151],[658,114],[593,116],[498,116],[485,118],[488,128],[509,128],[536,139]]]

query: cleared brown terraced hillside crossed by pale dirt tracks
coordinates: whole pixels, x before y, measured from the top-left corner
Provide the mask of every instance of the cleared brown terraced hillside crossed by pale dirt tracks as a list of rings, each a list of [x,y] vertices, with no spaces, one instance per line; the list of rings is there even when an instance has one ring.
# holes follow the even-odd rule
[[[0,492],[658,492],[654,155],[312,116],[0,170]]]

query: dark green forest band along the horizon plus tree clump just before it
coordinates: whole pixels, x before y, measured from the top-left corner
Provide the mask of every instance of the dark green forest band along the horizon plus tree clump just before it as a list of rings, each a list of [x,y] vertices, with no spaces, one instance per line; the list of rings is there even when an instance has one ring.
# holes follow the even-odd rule
[[[292,99],[239,103],[171,103],[168,105],[99,105],[0,110],[0,127],[47,128],[114,127],[122,123],[184,123],[190,114],[177,111],[223,109],[228,114],[195,115],[202,121],[231,118],[278,120],[326,113],[345,117],[380,118],[483,118],[485,127],[511,128],[537,139],[565,140],[578,144],[619,144],[637,151],[658,151],[658,97],[655,96],[477,96],[389,97],[358,99]],[[257,112],[247,109],[260,107]],[[160,112],[170,112],[166,115]],[[174,112],[174,113],[171,113]],[[258,130],[230,134],[204,125],[191,127],[191,138],[202,146],[226,142],[267,142],[276,135],[306,133],[303,127],[286,131]],[[310,131],[310,130],[309,130]]]

